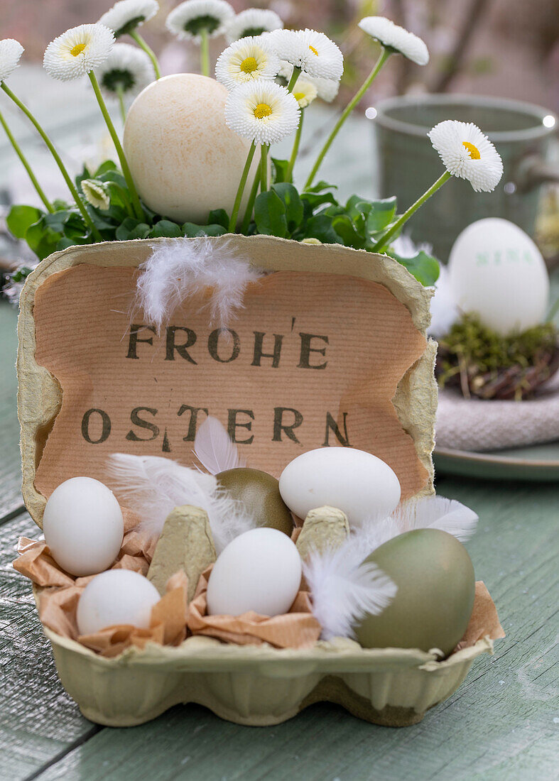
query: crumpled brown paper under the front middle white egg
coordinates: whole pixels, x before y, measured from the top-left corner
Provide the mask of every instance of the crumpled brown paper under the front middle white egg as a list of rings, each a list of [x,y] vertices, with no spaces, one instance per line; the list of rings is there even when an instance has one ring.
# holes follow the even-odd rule
[[[310,594],[299,591],[285,615],[206,615],[206,590],[213,565],[202,572],[194,599],[188,606],[188,629],[192,634],[216,637],[237,645],[269,643],[278,648],[304,648],[321,636],[321,625],[310,612]]]

